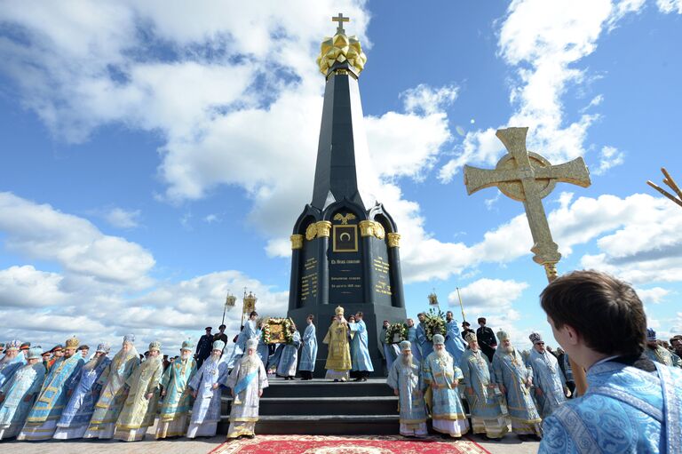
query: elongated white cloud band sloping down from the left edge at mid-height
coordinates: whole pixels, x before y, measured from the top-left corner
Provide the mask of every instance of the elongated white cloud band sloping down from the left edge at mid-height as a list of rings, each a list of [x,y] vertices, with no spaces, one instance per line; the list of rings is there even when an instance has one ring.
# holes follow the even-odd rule
[[[90,221],[12,193],[0,193],[5,247],[31,259],[52,260],[68,273],[138,288],[150,283],[152,255],[137,243],[102,234]]]

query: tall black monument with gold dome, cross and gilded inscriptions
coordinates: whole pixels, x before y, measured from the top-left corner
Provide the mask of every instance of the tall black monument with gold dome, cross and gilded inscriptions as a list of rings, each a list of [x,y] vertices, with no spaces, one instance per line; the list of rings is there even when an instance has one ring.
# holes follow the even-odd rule
[[[358,77],[366,57],[355,36],[343,28],[325,38],[317,59],[326,78],[313,198],[291,235],[288,316],[299,330],[315,316],[320,350],[315,376],[324,375],[327,346],[321,340],[337,306],[345,315],[361,311],[367,323],[375,374],[382,373],[378,335],[382,322],[407,317],[400,274],[400,235],[395,222],[362,184],[370,171],[362,127]],[[369,203],[369,204],[366,204]]]

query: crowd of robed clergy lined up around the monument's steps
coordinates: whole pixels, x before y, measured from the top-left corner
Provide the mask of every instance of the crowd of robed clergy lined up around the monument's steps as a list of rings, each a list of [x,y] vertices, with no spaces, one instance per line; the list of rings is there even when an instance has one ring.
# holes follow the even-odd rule
[[[418,319],[418,324],[408,319],[407,340],[386,339],[387,321],[379,339],[386,382],[399,396],[399,432],[404,436],[425,436],[431,418],[432,428],[448,438],[471,430],[499,440],[511,427],[521,440],[540,439],[543,418],[575,391],[567,354],[551,352],[538,333],[530,335],[530,351],[521,352],[506,332],[495,335],[485,318],[479,319],[477,331],[468,323],[460,331],[448,312],[446,335],[432,339],[424,315]],[[231,352],[224,354],[225,326],[215,335],[207,327],[195,349],[188,339],[170,361],[158,341],[140,355],[133,335],[123,337],[120,350],[111,358],[107,344],[99,344],[88,357],[89,348],[75,338],[53,348],[52,357],[44,356],[40,346],[18,340],[0,344],[4,348],[0,440],[133,442],[142,440],[155,423],[156,439],[214,436],[222,388],[233,396],[227,437],[253,437],[268,375],[313,378],[317,360],[313,322],[309,315],[303,336],[291,323],[289,342],[273,346],[266,344],[263,321],[253,312]],[[647,340],[647,357],[682,367],[682,337],[670,339],[667,347],[649,330]],[[362,313],[346,319],[343,307],[337,307],[323,342],[329,346],[325,378],[363,381],[374,371]]]

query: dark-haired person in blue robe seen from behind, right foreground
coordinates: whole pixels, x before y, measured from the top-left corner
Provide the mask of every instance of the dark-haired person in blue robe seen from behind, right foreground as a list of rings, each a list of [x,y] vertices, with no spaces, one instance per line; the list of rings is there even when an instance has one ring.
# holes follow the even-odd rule
[[[540,453],[682,452],[682,370],[646,358],[637,292],[575,271],[540,295],[554,339],[587,370],[587,392],[544,420]]]

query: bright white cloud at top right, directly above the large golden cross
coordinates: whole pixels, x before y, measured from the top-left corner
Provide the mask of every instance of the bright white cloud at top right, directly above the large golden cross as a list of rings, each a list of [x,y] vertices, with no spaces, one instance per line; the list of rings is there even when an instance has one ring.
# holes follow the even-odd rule
[[[576,64],[595,51],[604,28],[614,28],[628,13],[638,12],[643,3],[515,0],[510,4],[498,40],[500,56],[516,72],[510,93],[514,113],[506,125],[529,128],[529,150],[551,163],[585,154],[587,130],[599,115],[584,112],[603,98],[593,98],[572,123],[566,121],[562,100],[570,84],[590,80],[586,70]],[[459,153],[440,169],[440,179],[450,181],[465,163],[496,163],[504,147],[495,138],[495,129],[469,132]]]

